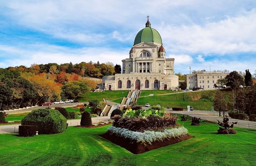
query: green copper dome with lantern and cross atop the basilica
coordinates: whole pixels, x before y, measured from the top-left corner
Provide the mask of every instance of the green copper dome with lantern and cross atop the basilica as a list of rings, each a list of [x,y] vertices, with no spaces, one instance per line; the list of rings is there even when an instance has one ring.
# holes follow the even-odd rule
[[[155,42],[162,45],[162,38],[157,30],[150,27],[151,24],[149,20],[146,22],[146,27],[138,32],[135,37],[134,45],[137,45],[141,42]]]

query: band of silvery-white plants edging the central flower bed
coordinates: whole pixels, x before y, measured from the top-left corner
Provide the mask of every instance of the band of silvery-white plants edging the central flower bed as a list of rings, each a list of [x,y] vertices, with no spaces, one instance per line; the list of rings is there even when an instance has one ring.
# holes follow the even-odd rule
[[[137,131],[131,131],[125,128],[111,126],[107,132],[110,135],[120,136],[124,139],[129,139],[131,142],[136,143],[148,143],[151,144],[155,141],[162,141],[163,139],[182,138],[188,134],[188,130],[185,127],[164,129],[161,131],[149,131],[146,130],[143,133]]]

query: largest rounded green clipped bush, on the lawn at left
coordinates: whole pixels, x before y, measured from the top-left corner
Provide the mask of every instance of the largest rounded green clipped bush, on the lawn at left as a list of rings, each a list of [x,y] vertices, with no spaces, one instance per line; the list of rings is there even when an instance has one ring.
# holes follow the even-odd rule
[[[67,119],[54,109],[33,110],[21,121],[21,125],[37,126],[38,134],[62,133],[66,123]]]

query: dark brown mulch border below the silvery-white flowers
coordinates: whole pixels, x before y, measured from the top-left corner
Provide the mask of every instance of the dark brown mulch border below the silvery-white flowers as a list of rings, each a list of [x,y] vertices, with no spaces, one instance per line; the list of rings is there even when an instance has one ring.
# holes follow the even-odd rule
[[[127,150],[129,150],[131,153],[134,153],[134,154],[141,154],[153,149],[175,144],[175,143],[184,141],[186,139],[194,138],[191,135],[186,135],[185,137],[182,137],[182,138],[173,138],[173,139],[164,139],[163,141],[155,141],[155,142],[152,142],[150,145],[150,144],[131,143],[130,140],[128,139],[124,139],[116,135],[109,135],[109,133],[105,133],[100,136],[111,141],[114,144],[117,144],[123,148],[126,148]]]

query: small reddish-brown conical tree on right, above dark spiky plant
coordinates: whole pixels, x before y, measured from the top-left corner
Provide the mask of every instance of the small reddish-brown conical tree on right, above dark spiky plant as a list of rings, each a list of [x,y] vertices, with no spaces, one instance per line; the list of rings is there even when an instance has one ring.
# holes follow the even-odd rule
[[[223,112],[223,117],[225,117],[225,111],[227,111],[227,101],[224,98],[223,93],[220,90],[217,90],[214,97],[214,110]]]

